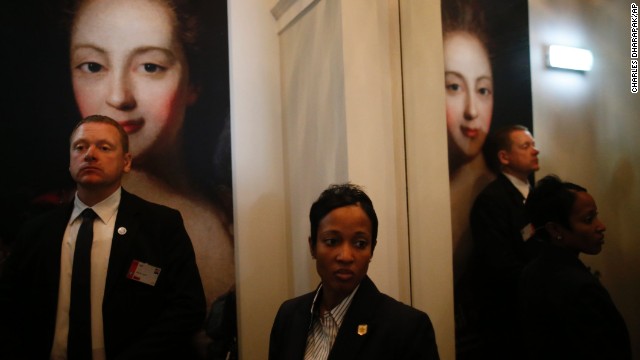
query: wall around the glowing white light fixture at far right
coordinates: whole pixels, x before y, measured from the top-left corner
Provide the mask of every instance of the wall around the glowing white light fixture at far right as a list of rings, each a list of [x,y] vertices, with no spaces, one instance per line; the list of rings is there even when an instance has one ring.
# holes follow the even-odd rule
[[[624,316],[640,359],[640,95],[630,92],[629,1],[529,0],[533,127],[540,178],[585,186],[607,225],[597,256],[582,256]],[[637,2],[636,2],[637,3]],[[549,70],[543,47],[594,53],[589,73]]]

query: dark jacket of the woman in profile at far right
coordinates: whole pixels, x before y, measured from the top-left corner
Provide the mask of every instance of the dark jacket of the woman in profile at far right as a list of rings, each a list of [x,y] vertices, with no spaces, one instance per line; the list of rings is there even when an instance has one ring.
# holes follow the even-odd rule
[[[574,254],[548,245],[524,269],[520,290],[529,359],[631,359],[622,316]]]

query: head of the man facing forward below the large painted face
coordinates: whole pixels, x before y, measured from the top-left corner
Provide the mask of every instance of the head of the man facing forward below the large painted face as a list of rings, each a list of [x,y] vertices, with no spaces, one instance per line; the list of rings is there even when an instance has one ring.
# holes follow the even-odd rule
[[[69,155],[71,177],[82,189],[115,191],[131,169],[131,154],[124,152],[120,133],[110,124],[80,125],[71,138]]]

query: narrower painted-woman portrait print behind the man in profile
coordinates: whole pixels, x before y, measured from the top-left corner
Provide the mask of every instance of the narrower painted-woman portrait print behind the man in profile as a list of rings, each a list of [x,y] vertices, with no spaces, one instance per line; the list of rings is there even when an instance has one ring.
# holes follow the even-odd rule
[[[445,99],[455,291],[456,353],[477,358],[474,242],[469,216],[496,178],[491,135],[508,125],[533,131],[526,0],[442,0]]]

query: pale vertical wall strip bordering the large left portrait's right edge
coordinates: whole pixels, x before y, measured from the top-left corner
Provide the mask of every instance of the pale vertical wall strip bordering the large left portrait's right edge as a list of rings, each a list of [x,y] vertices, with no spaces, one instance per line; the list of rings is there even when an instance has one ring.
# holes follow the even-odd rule
[[[242,359],[266,359],[289,291],[278,37],[265,0],[228,2],[231,135],[239,341]]]

